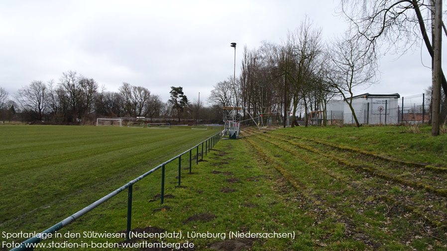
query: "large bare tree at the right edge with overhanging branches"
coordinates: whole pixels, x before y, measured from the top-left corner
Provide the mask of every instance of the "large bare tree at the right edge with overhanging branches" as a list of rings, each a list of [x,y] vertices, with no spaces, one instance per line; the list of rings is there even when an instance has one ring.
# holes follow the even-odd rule
[[[368,41],[369,51],[374,52],[376,47],[386,45],[388,50],[394,47],[395,51],[405,52],[422,38],[432,57],[432,83],[436,85],[433,101],[438,102],[440,97],[437,81],[447,94],[447,80],[442,70],[441,56],[438,56],[442,47],[441,27],[447,35],[442,21],[442,0],[342,0],[341,11],[357,31],[358,37]],[[426,28],[425,18],[431,21],[432,29]],[[432,110],[432,117],[435,117],[432,123],[434,136],[439,134],[437,107],[438,104]]]

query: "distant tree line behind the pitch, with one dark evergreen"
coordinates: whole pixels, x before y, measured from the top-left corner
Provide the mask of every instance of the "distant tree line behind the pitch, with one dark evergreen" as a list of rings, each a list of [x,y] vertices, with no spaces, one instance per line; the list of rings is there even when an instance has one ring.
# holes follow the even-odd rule
[[[180,121],[181,118],[196,120],[200,111],[202,119],[222,120],[213,115],[213,107],[190,102],[181,86],[172,86],[170,94],[171,98],[163,102],[146,87],[129,83],[122,83],[116,92],[106,91],[94,79],[67,71],[58,83],[32,81],[11,96],[0,87],[0,120],[92,124],[98,117],[157,117]]]

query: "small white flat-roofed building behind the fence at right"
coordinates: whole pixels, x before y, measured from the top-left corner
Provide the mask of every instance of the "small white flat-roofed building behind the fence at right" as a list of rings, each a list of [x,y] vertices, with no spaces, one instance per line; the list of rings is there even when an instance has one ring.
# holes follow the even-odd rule
[[[352,97],[352,108],[360,124],[395,124],[398,123],[397,101],[399,97],[398,93],[364,93]],[[344,124],[355,123],[347,103],[344,105],[343,122]]]

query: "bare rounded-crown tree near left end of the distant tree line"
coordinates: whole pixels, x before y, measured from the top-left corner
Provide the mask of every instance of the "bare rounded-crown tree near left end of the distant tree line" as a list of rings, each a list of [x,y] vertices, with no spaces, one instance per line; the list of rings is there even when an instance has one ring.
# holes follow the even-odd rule
[[[17,91],[17,103],[33,119],[42,120],[48,105],[48,89],[42,81],[33,81]]]

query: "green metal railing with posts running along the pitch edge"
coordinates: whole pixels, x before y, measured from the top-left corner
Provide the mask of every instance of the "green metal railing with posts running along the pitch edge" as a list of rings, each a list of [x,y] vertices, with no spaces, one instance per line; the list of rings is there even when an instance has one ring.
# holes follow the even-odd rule
[[[126,240],[129,240],[130,235],[130,227],[131,227],[131,218],[132,218],[132,186],[136,182],[140,181],[147,175],[151,174],[152,172],[158,170],[161,168],[161,204],[164,202],[164,183],[165,183],[165,166],[174,160],[179,160],[179,170],[178,170],[178,185],[181,184],[181,163],[182,163],[182,156],[187,154],[189,152],[189,172],[191,173],[192,167],[191,167],[191,160],[192,160],[192,150],[196,148],[196,164],[199,164],[199,146],[202,145],[202,160],[203,160],[203,149],[204,149],[204,143],[205,143],[205,153],[207,153],[221,140],[221,136],[219,133],[211,136],[210,138],[202,141],[201,143],[197,144],[196,146],[190,148],[189,150],[177,155],[176,157],[158,165],[157,167],[152,168],[151,170],[145,172],[144,174],[138,176],[137,178],[130,180],[125,185],[119,187],[118,189],[114,190],[113,192],[109,193],[108,195],[102,197],[101,199],[93,202],[89,206],[79,210],[78,212],[74,213],[70,217],[65,218],[61,222],[57,223],[56,225],[48,228],[47,230],[41,232],[38,234],[38,237],[29,238],[28,240],[22,242],[19,247],[13,248],[10,251],[32,251],[33,248],[26,247],[27,244],[32,243],[39,243],[40,241],[46,239],[45,236],[48,234],[53,234],[56,231],[62,229],[63,227],[67,226],[68,224],[72,223],[76,219],[80,218],[81,216],[85,215],[86,213],[90,212],[94,208],[98,207],[99,205],[103,204],[113,196],[117,195],[118,193],[122,192],[125,189],[128,189],[128,196],[127,196],[127,228],[126,228]],[[42,238],[43,237],[43,238]]]

